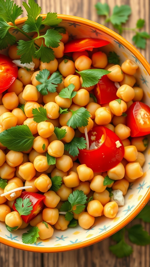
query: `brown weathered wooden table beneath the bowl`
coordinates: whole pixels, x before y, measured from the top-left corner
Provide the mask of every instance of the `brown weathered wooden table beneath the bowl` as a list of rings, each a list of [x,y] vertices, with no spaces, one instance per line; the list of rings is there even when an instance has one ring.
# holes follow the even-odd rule
[[[28,2],[27,0],[24,0]],[[42,13],[57,12],[58,14],[75,15],[87,18],[103,24],[104,18],[98,17],[94,5],[98,0],[36,0],[42,7]],[[14,2],[22,6],[21,0]],[[102,3],[108,3],[112,11],[115,5],[128,4],[131,6],[132,15],[126,26],[134,28],[139,18],[145,19],[144,30],[150,33],[149,0],[101,0]],[[22,17],[25,17],[24,12]],[[106,25],[112,28],[111,25]],[[112,28],[113,29],[113,28]],[[132,31],[126,31],[123,37],[132,43]],[[143,56],[150,62],[149,41],[145,50],[140,50]],[[150,233],[150,225],[136,219],[129,223],[132,226],[135,223],[142,223],[145,230]],[[130,257],[117,259],[108,249],[113,244],[111,237],[91,245],[89,247],[62,253],[33,253],[13,249],[6,245],[0,244],[0,267],[150,267],[150,246],[133,247],[133,254]]]

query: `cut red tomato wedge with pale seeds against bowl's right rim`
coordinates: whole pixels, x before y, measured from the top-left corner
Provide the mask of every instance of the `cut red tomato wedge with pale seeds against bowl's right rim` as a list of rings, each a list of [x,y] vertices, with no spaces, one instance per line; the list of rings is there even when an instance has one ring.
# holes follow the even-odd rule
[[[126,113],[131,137],[144,136],[150,133],[150,107],[148,105],[136,101],[132,103]]]

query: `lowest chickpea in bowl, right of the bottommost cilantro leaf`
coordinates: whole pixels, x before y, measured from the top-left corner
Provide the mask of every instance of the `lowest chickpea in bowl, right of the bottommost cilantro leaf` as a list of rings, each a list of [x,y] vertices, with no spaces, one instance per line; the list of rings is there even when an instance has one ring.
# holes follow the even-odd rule
[[[52,237],[54,229],[49,223],[40,222],[36,226],[40,230],[38,232],[40,239],[44,240],[44,239]]]

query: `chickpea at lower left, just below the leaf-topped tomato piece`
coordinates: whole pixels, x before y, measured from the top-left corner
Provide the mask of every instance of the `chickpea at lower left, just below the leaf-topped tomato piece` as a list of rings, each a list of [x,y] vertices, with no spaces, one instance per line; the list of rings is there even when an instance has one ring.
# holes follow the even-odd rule
[[[22,218],[17,211],[12,211],[6,215],[5,223],[9,227],[17,227],[16,229],[13,229],[15,231],[22,225]]]

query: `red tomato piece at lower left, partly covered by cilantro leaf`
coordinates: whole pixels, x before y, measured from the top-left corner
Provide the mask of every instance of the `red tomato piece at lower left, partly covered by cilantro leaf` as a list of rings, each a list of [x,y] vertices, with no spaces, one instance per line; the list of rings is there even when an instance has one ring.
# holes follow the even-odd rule
[[[45,206],[43,202],[43,199],[45,198],[44,195],[23,191],[19,198],[22,199],[29,198],[33,206],[33,210],[31,210],[31,213],[29,215],[21,215],[21,218],[25,223],[30,222],[36,215],[38,215],[41,212],[41,210],[44,209]],[[16,200],[13,203],[13,210],[17,211],[15,208],[15,203]]]

